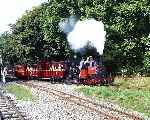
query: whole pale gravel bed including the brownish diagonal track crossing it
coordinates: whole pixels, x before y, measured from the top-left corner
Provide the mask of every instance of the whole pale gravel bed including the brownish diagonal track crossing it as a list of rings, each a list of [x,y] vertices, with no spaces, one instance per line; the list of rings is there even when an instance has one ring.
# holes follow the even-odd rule
[[[33,84],[33,85],[32,85]],[[30,120],[146,120],[144,114],[120,107],[111,101],[97,100],[96,96],[87,96],[81,90],[88,86],[57,84],[45,81],[28,81],[24,83],[7,83],[11,93],[26,89],[16,106],[24,111]],[[17,86],[17,89],[14,86]],[[18,89],[19,87],[19,89]],[[91,86],[90,89],[104,86]],[[110,88],[110,86],[108,87]],[[9,90],[10,89],[10,90]],[[12,90],[13,89],[13,90]],[[79,92],[78,90],[82,91]],[[25,91],[26,91],[25,90]],[[24,91],[24,90],[23,90]],[[89,92],[87,90],[87,92]],[[20,95],[20,93],[17,93]]]

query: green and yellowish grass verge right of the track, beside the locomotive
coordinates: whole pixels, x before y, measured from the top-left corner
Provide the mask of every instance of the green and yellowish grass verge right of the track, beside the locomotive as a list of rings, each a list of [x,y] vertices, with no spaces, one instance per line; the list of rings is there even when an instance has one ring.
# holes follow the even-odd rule
[[[114,86],[78,86],[75,90],[150,117],[150,78],[116,78]]]

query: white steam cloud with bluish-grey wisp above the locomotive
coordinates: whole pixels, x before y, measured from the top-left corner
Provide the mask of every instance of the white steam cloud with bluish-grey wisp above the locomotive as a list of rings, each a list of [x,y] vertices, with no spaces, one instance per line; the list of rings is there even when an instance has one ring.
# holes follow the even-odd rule
[[[62,30],[67,33],[68,42],[74,50],[80,50],[90,42],[99,54],[103,54],[106,32],[101,21],[95,19],[77,21],[72,18],[62,23],[60,28],[63,28]],[[71,25],[71,23],[73,24]]]

